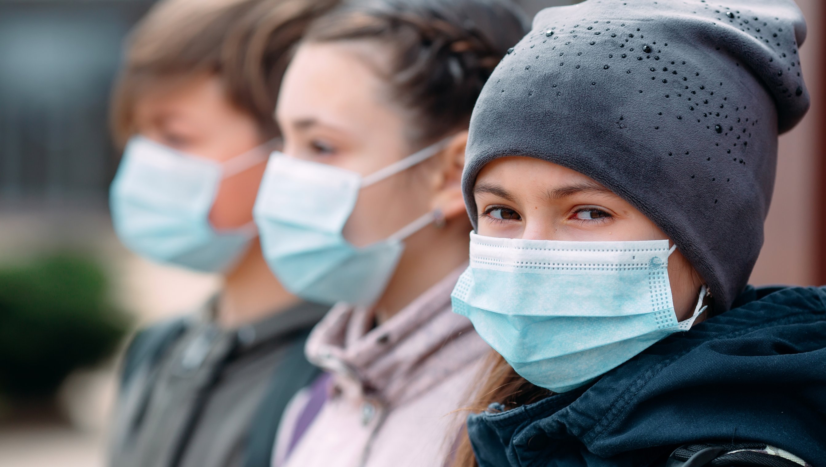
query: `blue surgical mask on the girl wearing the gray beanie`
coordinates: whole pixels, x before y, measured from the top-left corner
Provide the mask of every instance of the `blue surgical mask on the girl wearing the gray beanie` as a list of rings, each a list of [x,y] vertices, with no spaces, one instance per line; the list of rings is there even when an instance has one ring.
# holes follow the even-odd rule
[[[705,310],[677,322],[668,241],[541,241],[471,234],[453,311],[531,383],[587,384]]]

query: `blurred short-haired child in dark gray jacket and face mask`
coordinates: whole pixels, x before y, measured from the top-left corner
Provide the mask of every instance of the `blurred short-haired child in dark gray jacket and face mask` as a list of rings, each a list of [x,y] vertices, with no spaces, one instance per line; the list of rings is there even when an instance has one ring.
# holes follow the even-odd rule
[[[303,355],[329,309],[269,271],[252,218],[289,52],[332,0],[167,0],[131,37],[114,95],[126,146],[112,183],[121,241],[223,274],[186,317],[150,326],[123,364],[110,465],[269,465],[278,420],[318,374]]]

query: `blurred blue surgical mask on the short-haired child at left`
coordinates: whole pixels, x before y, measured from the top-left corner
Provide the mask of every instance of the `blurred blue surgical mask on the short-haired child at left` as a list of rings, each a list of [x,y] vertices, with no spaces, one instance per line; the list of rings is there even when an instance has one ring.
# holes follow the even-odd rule
[[[110,190],[112,222],[130,250],[202,272],[232,267],[256,235],[254,222],[215,231],[209,212],[221,180],[266,160],[256,148],[223,164],[136,136]]]

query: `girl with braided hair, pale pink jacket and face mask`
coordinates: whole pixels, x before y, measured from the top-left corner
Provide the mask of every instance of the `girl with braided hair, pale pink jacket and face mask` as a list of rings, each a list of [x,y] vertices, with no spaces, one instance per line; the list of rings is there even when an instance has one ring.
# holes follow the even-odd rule
[[[450,310],[468,260],[460,187],[478,93],[525,34],[502,0],[350,2],[284,77],[254,209],[293,293],[339,303],[312,331],[329,374],[293,399],[275,465],[442,465],[490,348]]]

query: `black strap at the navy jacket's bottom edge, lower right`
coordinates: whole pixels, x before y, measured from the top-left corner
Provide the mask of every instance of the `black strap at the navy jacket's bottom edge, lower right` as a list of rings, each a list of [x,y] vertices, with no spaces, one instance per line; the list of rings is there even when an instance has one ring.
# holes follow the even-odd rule
[[[693,443],[668,457],[665,467],[800,467],[803,460],[766,443]]]

